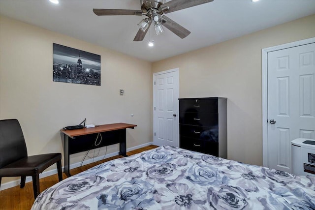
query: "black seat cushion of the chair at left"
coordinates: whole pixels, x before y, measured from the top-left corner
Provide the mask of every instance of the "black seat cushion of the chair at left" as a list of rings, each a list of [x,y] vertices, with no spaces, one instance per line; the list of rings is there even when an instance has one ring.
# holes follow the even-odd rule
[[[61,153],[32,155],[0,168],[0,177],[35,176],[61,160]]]

